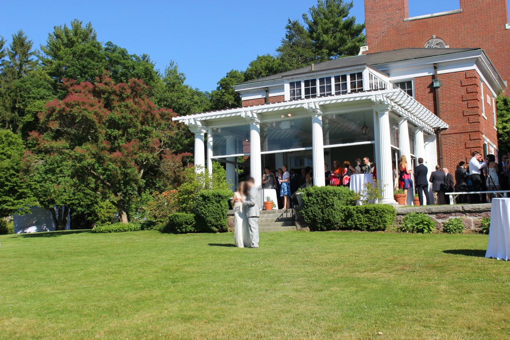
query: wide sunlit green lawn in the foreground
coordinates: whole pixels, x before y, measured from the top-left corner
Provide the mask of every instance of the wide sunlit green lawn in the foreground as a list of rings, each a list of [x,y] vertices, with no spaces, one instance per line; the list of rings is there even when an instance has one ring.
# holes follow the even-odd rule
[[[510,337],[487,236],[279,232],[0,236],[0,338]],[[377,335],[382,332],[382,335]]]

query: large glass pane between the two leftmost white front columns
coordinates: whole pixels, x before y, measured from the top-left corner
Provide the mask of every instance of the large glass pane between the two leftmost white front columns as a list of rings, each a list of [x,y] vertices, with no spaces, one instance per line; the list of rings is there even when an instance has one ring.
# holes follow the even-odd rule
[[[213,128],[213,156],[250,152],[249,125]]]

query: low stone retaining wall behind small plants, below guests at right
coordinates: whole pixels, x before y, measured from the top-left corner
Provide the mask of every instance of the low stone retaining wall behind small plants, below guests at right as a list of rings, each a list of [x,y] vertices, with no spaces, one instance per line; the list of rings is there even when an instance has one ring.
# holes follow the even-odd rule
[[[424,205],[416,207],[396,208],[399,225],[405,215],[409,213],[427,214],[434,222],[438,230],[443,228],[443,223],[451,218],[460,218],[466,226],[466,231],[479,231],[481,220],[491,217],[491,204],[458,204],[458,205]]]

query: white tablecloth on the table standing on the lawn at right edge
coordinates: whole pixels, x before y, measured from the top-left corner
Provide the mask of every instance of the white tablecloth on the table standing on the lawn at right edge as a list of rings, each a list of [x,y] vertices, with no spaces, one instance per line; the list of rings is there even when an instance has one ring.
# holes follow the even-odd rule
[[[485,257],[510,258],[510,198],[493,198],[491,228]]]

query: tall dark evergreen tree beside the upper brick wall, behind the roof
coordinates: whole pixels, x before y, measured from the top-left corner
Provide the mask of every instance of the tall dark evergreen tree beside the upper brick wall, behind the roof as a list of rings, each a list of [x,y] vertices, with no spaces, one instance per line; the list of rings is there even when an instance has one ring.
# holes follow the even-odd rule
[[[349,16],[352,7],[352,1],[319,0],[317,6],[310,8],[310,16],[303,14],[321,61],[355,56],[365,44],[365,24],[356,23],[356,18]]]

